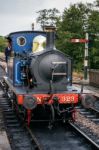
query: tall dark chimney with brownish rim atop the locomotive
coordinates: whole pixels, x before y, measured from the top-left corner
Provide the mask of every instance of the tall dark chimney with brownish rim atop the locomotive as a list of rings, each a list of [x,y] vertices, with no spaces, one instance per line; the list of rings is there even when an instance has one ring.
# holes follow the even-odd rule
[[[54,26],[44,26],[47,38],[46,50],[55,49],[55,29]]]

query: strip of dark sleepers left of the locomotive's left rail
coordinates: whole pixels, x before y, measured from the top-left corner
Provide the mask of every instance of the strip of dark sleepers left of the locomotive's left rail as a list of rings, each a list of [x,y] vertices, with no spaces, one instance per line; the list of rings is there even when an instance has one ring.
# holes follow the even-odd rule
[[[0,107],[3,109],[4,123],[11,148],[13,150],[35,150],[38,146],[36,141],[21,124],[6,98],[0,97]]]

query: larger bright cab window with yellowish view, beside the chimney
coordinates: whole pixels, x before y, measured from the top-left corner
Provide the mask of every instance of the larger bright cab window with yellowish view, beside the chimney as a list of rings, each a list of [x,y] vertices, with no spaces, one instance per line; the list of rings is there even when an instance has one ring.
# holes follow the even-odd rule
[[[46,46],[46,38],[42,35],[38,35],[34,38],[32,44],[33,53],[43,51]]]

